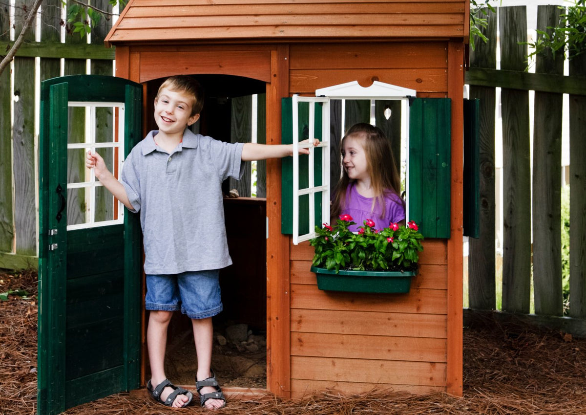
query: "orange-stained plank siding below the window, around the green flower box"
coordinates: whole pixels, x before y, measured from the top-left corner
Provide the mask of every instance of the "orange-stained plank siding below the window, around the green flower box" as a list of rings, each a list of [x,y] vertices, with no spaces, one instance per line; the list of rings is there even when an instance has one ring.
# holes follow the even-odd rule
[[[408,294],[317,288],[313,247],[291,245],[291,394],[424,393],[447,383],[447,243],[427,240]],[[348,382],[353,380],[354,382]]]

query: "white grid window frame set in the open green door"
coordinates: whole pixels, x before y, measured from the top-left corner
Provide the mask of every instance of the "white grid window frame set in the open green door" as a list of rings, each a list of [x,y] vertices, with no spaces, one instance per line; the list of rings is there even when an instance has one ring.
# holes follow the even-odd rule
[[[68,107],[83,107],[86,109],[86,133],[84,134],[84,142],[67,143],[67,149],[84,149],[94,152],[96,148],[118,148],[118,174],[122,171],[122,164],[124,163],[124,103],[120,102],[92,102],[92,101],[69,101]],[[107,107],[118,109],[118,141],[96,142],[96,108]],[[118,178],[117,178],[118,179]],[[67,225],[67,230],[88,229],[98,226],[108,226],[114,224],[124,223],[124,205],[118,203],[118,215],[113,220],[101,220],[96,222],[96,188],[103,186],[100,181],[96,180],[94,169],[86,168],[85,181],[67,183],[67,190],[69,189],[86,189],[86,222],[79,224]]]

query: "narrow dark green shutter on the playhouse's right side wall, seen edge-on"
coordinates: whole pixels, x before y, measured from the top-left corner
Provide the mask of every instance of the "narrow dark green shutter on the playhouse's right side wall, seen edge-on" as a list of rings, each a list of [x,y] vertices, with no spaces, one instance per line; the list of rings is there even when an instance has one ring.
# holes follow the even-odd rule
[[[464,235],[480,235],[480,100],[464,100]]]

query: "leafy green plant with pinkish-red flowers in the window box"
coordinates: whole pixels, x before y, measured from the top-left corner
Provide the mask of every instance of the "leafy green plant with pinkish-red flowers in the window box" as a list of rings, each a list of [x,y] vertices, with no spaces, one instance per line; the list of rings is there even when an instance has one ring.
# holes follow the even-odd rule
[[[372,219],[364,220],[358,233],[348,227],[356,224],[352,216],[340,215],[334,226],[327,223],[320,229],[319,236],[309,243],[315,247],[313,265],[336,270],[384,270],[406,271],[417,269],[418,251],[423,251],[423,235],[418,232],[415,222],[407,226],[390,223],[388,227],[376,229]]]

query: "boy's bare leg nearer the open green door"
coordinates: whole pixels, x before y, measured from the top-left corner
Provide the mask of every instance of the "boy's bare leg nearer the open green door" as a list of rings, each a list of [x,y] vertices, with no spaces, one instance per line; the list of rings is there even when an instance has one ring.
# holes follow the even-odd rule
[[[167,328],[171,321],[172,311],[151,310],[148,320],[147,345],[148,358],[151,363],[151,385],[155,388],[166,379],[165,376],[165,348],[167,345]],[[165,387],[161,393],[161,400],[165,401],[173,392],[171,387]],[[177,395],[173,407],[180,408],[189,398],[184,394]]]

